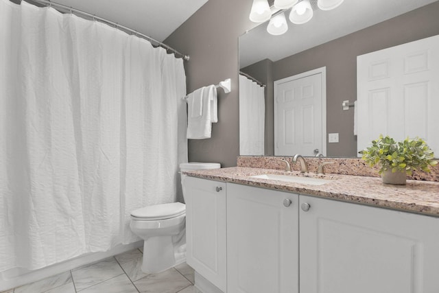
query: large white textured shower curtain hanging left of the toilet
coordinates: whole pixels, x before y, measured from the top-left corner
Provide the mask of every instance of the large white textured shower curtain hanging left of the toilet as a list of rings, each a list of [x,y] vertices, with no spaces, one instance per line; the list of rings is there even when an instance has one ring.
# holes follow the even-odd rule
[[[53,8],[0,0],[0,272],[139,240],[187,162],[181,59]]]

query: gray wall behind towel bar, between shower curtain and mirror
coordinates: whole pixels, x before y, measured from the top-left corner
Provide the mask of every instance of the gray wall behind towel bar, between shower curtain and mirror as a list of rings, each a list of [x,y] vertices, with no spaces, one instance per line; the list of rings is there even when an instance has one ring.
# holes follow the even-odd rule
[[[232,91],[218,93],[218,123],[211,139],[189,140],[189,161],[236,166],[239,154],[238,37],[254,27],[252,0],[210,0],[165,43],[191,59],[185,62],[187,92],[231,78]]]

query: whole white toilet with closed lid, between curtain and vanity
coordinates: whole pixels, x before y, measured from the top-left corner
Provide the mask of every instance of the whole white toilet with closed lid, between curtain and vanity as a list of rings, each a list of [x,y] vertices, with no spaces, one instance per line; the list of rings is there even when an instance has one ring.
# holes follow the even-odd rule
[[[219,163],[181,163],[180,171],[220,167]],[[185,177],[181,175],[182,183]],[[131,212],[131,231],[144,240],[143,272],[163,272],[186,260],[185,220],[186,206],[181,202],[154,204]]]

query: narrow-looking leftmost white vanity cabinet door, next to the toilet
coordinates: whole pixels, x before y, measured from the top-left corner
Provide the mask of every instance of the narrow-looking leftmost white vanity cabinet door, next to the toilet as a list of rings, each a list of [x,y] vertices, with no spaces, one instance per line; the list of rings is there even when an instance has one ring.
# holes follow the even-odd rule
[[[187,263],[226,292],[226,183],[187,177]]]

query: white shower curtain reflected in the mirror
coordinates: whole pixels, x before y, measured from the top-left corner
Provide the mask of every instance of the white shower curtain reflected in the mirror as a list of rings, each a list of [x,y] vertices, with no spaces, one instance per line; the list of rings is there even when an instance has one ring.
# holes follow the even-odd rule
[[[265,93],[263,86],[239,75],[239,154],[264,154]]]

